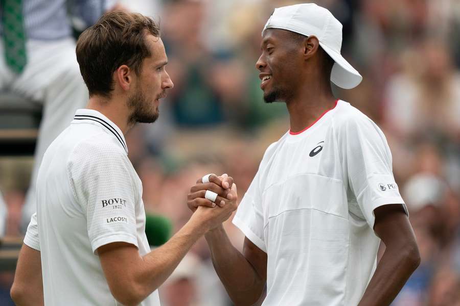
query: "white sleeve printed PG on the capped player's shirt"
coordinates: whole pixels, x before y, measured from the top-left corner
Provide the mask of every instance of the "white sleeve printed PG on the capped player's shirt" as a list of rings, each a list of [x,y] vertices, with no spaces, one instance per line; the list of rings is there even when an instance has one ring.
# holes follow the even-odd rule
[[[367,224],[374,228],[374,210],[383,205],[401,204],[407,214],[393,176],[392,154],[379,127],[364,115],[349,119],[340,129],[339,146],[350,189]]]

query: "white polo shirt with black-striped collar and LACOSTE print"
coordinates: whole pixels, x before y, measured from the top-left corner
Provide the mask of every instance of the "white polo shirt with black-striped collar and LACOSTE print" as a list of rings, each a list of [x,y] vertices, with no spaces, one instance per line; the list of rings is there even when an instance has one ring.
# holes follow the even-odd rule
[[[24,240],[41,251],[45,305],[120,305],[110,293],[97,248],[127,242],[141,256],[150,252],[142,184],[127,152],[119,127],[87,109],[77,111],[45,152],[37,215]],[[158,292],[141,305],[159,305]]]

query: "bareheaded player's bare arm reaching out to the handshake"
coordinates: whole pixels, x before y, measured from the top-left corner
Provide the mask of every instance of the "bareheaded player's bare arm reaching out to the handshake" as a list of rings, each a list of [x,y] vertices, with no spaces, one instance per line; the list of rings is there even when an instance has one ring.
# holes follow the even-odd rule
[[[232,189],[236,198],[236,187]],[[100,246],[99,259],[112,295],[127,306],[139,304],[166,281],[193,244],[228,219],[236,207],[236,200],[224,207],[199,207],[168,242],[143,257],[133,244]]]

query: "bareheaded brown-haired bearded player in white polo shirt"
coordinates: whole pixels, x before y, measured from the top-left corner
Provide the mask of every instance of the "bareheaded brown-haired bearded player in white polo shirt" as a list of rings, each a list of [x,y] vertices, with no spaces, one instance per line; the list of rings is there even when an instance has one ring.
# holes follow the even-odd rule
[[[214,193],[225,186],[233,201],[219,210],[198,208],[150,251],[142,184],[124,134],[137,122],[155,121],[159,99],[173,87],[159,29],[140,14],[108,13],[80,36],[77,59],[89,102],[44,154],[37,215],[12,296],[18,305],[42,304],[43,295],[47,306],[159,305],[158,286],[198,238],[236,209],[236,187],[227,179],[204,184]],[[221,205],[226,199],[213,200]],[[35,282],[40,271],[42,288],[41,279]]]

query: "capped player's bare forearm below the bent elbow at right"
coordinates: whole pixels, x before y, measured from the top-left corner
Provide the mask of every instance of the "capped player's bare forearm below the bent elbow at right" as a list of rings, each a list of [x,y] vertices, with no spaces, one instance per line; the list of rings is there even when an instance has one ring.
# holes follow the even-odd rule
[[[359,306],[389,305],[419,264],[417,246],[386,248]]]

